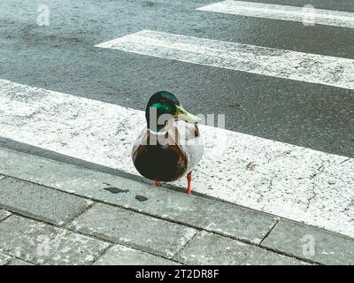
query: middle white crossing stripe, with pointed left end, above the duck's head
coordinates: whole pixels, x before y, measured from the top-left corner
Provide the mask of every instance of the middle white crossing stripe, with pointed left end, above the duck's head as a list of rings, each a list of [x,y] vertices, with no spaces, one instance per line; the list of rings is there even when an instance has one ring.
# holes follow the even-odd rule
[[[354,60],[142,30],[96,47],[354,89]]]

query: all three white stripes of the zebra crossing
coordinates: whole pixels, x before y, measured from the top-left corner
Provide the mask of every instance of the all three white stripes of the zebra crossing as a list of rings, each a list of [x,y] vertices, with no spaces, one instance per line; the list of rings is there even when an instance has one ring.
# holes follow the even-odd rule
[[[224,1],[197,11],[299,21],[299,9]],[[354,22],[347,12],[320,10],[319,15],[323,25]],[[97,50],[354,90],[350,58],[148,29],[97,43]],[[0,80],[0,104],[0,136],[137,174],[130,152],[145,125],[142,111],[12,80]],[[201,126],[201,131],[207,143],[196,168],[196,192],[354,237],[353,158],[217,127]],[[175,185],[185,187],[185,180]]]

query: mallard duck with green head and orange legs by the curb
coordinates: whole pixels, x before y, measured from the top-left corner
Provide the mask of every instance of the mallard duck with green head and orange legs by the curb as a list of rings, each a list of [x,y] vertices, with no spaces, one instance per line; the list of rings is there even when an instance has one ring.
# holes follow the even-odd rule
[[[143,177],[161,181],[178,180],[187,174],[191,194],[192,169],[204,154],[199,118],[186,111],[172,93],[159,91],[146,106],[147,126],[132,150],[133,163]]]

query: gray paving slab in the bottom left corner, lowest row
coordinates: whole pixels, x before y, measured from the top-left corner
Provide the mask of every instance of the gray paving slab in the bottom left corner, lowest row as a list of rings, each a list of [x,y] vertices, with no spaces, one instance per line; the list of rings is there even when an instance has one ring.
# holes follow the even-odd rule
[[[35,264],[91,264],[108,246],[27,218],[11,216],[0,222],[0,252]]]

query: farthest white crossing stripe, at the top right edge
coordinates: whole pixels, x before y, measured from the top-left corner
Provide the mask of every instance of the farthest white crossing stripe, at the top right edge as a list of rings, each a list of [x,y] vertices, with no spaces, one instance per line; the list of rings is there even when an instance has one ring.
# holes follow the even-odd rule
[[[215,11],[265,19],[291,20],[304,23],[311,23],[313,21],[315,25],[354,28],[354,13],[352,12],[314,9],[310,7],[311,6],[296,7],[227,0],[206,5],[196,10]]]

